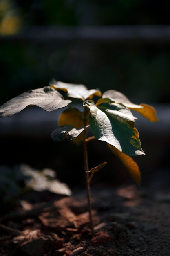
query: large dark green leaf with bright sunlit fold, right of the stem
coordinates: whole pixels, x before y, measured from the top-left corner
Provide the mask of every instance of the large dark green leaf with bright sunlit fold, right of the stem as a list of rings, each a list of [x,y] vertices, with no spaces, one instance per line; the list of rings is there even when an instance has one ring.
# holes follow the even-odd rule
[[[89,124],[95,139],[106,141],[126,155],[145,155],[141,148],[135,118],[131,111],[111,99],[84,102],[90,108]]]

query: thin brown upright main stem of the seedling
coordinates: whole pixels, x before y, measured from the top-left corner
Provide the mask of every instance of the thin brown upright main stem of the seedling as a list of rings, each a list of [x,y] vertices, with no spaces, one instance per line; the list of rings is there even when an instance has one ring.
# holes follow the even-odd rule
[[[86,125],[86,109],[84,111],[84,125]],[[86,135],[87,130],[84,130],[84,139],[83,139],[83,154],[84,154],[84,170],[85,170],[85,178],[86,178],[86,192],[87,192],[87,202],[88,202],[88,213],[89,213],[89,220],[91,225],[91,234],[92,237],[94,236],[94,227],[93,227],[93,219],[91,213],[91,192],[90,192],[90,180],[89,180],[89,170],[88,167],[88,154],[87,154],[87,142],[86,142]]]

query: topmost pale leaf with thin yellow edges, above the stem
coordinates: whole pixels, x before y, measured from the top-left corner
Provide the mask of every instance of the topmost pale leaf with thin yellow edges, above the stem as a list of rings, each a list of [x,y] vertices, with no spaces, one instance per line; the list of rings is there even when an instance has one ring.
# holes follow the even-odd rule
[[[85,85],[82,84],[71,84],[71,83],[63,83],[60,81],[55,81],[54,79],[50,83],[51,87],[55,88],[55,90],[63,90],[67,92],[67,97],[82,99],[85,101],[86,99],[92,99],[94,95],[101,96],[101,92],[98,89],[88,90]]]

